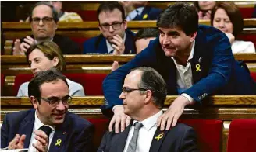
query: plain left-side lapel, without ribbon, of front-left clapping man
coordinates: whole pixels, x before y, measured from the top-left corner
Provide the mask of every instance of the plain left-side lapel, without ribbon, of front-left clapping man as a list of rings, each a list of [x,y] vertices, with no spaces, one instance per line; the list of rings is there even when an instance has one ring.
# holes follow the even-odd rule
[[[31,139],[31,135],[33,132],[33,127],[34,127],[34,112],[35,110],[32,109],[30,111],[30,114],[27,115],[24,119],[23,122],[20,123],[20,128],[18,130],[18,134],[22,135],[25,134],[26,135],[26,139],[24,142],[24,147],[28,148],[30,146],[30,139]]]

